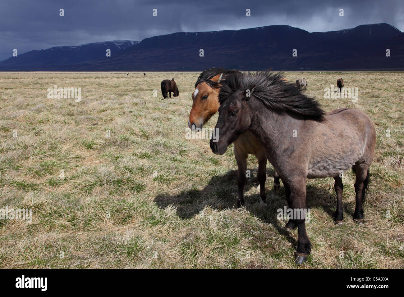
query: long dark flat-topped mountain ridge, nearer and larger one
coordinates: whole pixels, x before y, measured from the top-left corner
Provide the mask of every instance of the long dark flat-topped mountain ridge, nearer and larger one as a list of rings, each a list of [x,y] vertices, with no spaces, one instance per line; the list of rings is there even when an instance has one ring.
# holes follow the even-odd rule
[[[308,32],[289,25],[175,32],[145,38],[111,57],[64,65],[68,71],[200,71],[404,69],[404,33],[387,23]],[[385,50],[391,47],[391,57]],[[199,56],[200,49],[204,56]],[[297,49],[297,56],[292,50]],[[25,70],[61,70],[57,65]],[[0,70],[7,70],[0,62]],[[11,69],[10,69],[11,70]],[[14,68],[13,70],[18,70]]]

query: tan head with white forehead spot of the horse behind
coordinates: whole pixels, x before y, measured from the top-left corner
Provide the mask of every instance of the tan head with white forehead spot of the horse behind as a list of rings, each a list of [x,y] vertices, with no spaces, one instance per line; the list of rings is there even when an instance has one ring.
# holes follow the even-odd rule
[[[212,77],[210,80],[219,84],[222,73]],[[220,87],[214,88],[206,82],[201,82],[196,86],[192,93],[192,109],[189,113],[189,128],[201,128],[210,119],[212,115],[217,113],[219,109],[219,91]]]

